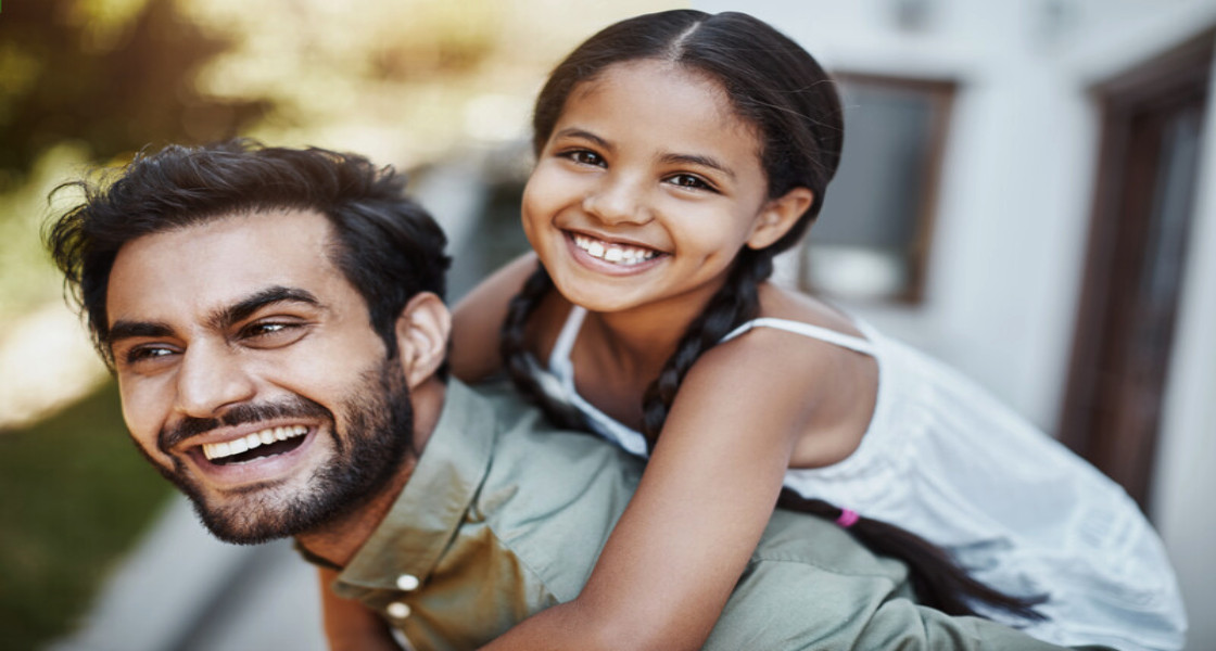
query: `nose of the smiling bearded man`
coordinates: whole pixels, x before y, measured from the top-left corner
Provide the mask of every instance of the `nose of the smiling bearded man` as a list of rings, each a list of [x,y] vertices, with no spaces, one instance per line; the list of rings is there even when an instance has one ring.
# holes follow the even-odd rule
[[[253,378],[237,351],[219,343],[198,343],[182,353],[178,368],[178,411],[181,414],[213,418],[253,395]]]

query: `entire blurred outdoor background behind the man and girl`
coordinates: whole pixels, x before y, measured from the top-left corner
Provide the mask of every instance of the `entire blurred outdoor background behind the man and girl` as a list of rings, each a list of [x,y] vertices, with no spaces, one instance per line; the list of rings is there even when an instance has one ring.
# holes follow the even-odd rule
[[[97,163],[248,135],[412,170],[452,298],[527,244],[528,113],[687,2],[0,5],[0,629],[16,649],[322,649],[287,545],[207,537],[125,442],[38,244]],[[846,149],[781,281],[961,368],[1122,483],[1216,649],[1216,0],[703,0],[807,47]],[[2,645],[0,645],[2,646]]]

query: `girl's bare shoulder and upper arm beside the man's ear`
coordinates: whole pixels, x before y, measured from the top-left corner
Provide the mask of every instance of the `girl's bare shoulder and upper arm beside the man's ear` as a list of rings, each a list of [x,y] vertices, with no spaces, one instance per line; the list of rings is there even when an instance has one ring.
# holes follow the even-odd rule
[[[483,380],[502,367],[499,329],[507,305],[536,270],[536,254],[527,253],[482,281],[452,310],[452,345],[447,363],[466,383]]]

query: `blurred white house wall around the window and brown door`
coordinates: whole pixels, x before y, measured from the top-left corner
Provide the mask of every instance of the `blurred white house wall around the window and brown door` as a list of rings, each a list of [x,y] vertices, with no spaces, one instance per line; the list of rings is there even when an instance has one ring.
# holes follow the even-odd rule
[[[747,11],[828,69],[958,83],[927,300],[852,305],[1051,430],[1080,298],[1099,115],[1094,84],[1216,24],[1216,0],[700,0]],[[1209,102],[1216,125],[1216,101]],[[846,136],[848,137],[848,132]],[[1207,129],[1154,489],[1190,613],[1216,649],[1216,129]],[[811,237],[814,237],[814,228]]]

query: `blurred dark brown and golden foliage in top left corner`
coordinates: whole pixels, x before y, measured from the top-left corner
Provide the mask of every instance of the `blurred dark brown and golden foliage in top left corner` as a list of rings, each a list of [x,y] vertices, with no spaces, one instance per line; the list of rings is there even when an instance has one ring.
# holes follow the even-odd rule
[[[0,188],[51,147],[108,160],[150,142],[238,134],[268,102],[201,92],[203,66],[231,47],[182,19],[175,0],[23,0],[0,13]]]

